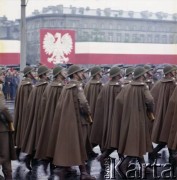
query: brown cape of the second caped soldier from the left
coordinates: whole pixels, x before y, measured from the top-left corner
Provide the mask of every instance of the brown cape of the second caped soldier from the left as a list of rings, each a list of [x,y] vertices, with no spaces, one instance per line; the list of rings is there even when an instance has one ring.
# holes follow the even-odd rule
[[[22,152],[32,154],[36,151],[41,130],[43,111],[42,96],[48,83],[45,80],[39,80],[30,93],[27,104],[27,113],[25,121],[28,122],[25,130]]]

